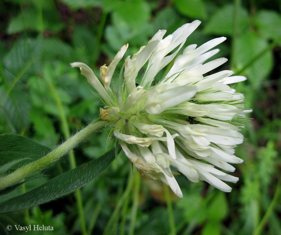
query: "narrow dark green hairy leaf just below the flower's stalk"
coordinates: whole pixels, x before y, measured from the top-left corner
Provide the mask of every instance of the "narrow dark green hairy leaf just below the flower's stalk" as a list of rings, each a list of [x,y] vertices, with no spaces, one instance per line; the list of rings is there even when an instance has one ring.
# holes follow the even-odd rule
[[[114,158],[115,149],[112,149],[98,159],[80,165],[33,190],[0,203],[0,213],[26,209],[67,195],[93,180],[108,167]]]

